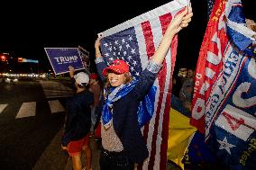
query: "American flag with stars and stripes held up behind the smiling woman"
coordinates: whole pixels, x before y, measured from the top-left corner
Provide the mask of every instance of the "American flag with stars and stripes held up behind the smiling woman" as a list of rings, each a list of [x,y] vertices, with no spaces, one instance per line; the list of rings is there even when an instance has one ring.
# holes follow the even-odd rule
[[[123,59],[129,64],[132,76],[139,78],[159,46],[169,22],[187,3],[187,0],[172,1],[102,32],[101,49],[106,62],[110,64],[115,58]],[[154,114],[151,121],[142,128],[150,156],[137,169],[166,169],[171,76],[177,42],[175,37],[154,83],[157,87]]]

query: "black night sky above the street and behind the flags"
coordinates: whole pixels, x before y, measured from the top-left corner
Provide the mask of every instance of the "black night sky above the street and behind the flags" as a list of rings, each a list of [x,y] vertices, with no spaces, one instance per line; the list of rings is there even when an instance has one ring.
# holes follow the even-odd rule
[[[251,0],[243,0],[247,17],[255,19]],[[45,47],[78,47],[94,58],[96,34],[146,13],[169,0],[1,2],[0,52],[37,58],[48,69]],[[196,67],[206,30],[206,0],[191,0],[193,19],[179,32],[176,68]]]

